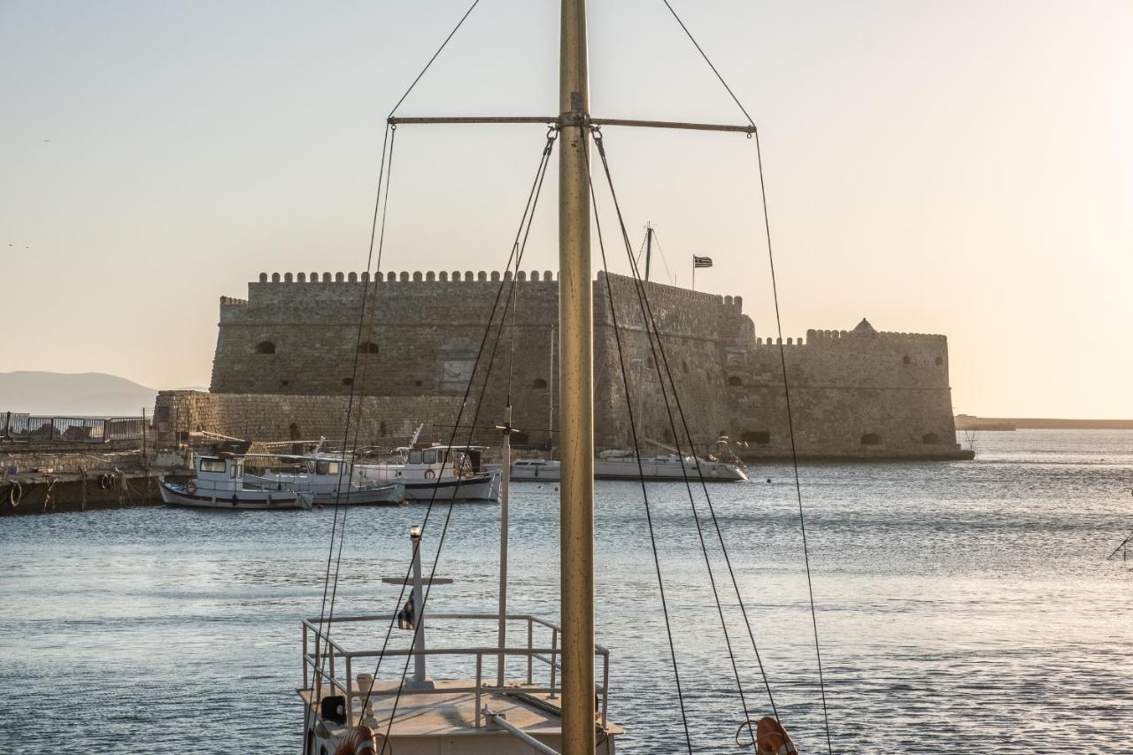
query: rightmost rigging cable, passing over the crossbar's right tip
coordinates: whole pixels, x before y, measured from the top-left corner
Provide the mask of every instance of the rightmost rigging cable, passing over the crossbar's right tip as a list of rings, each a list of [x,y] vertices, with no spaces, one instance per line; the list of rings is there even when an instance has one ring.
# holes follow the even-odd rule
[[[673,18],[676,19],[676,23],[680,24],[681,28],[684,31],[684,34],[689,37],[689,41],[692,42],[693,46],[696,46],[697,52],[699,52],[700,57],[704,58],[706,63],[708,63],[708,67],[712,68],[713,74],[716,75],[716,78],[727,91],[729,95],[732,97],[732,101],[735,102],[735,105],[743,113],[744,118],[748,119],[748,122],[751,125],[755,134],[756,160],[759,167],[759,196],[763,203],[763,211],[764,211],[764,229],[766,230],[767,234],[767,260],[770,264],[772,296],[775,302],[775,325],[778,331],[780,364],[783,367],[783,395],[786,401],[787,431],[791,438],[791,464],[794,470],[795,495],[799,501],[799,529],[802,533],[802,554],[803,554],[803,562],[807,569],[807,593],[810,599],[810,621],[815,634],[815,659],[817,660],[818,663],[818,688],[823,698],[823,721],[826,729],[826,749],[827,753],[833,753],[834,744],[830,738],[830,718],[826,706],[826,682],[823,675],[823,653],[818,641],[818,616],[815,611],[815,588],[810,576],[810,552],[807,545],[807,523],[802,508],[802,485],[799,477],[799,453],[794,441],[794,422],[791,413],[791,391],[789,388],[787,374],[786,374],[786,351],[783,348],[783,319],[780,315],[778,287],[775,280],[775,254],[772,247],[772,228],[767,211],[767,188],[764,181],[764,158],[763,158],[763,151],[760,150],[759,146],[759,129],[756,128],[756,121],[752,120],[750,114],[748,114],[747,108],[744,108],[743,103],[740,102],[740,99],[735,96],[735,92],[733,92],[732,87],[729,86],[726,80],[724,80],[724,77],[721,75],[719,70],[708,58],[708,54],[704,51],[704,48],[700,46],[700,43],[697,42],[696,37],[692,36],[692,32],[690,32],[689,27],[684,25],[683,20],[681,20],[681,17],[676,14],[676,10],[673,9],[673,6],[670,5],[668,0],[662,0],[662,2],[664,2],[665,7],[668,8],[668,12],[671,12],[673,15]]]

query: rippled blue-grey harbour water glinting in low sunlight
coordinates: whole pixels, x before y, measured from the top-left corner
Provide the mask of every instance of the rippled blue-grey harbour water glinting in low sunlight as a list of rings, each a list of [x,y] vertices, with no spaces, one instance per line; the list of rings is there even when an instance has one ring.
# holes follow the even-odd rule
[[[1133,753],[1133,571],[1106,560],[1133,529],[1133,432],[976,443],[974,461],[801,469],[834,750]],[[780,715],[803,752],[825,752],[793,480],[750,472],[712,486],[713,504]],[[513,490],[509,608],[554,620],[556,494]],[[649,492],[693,750],[739,752],[743,709],[684,489]],[[619,752],[682,752],[640,489],[599,483],[597,499]],[[338,613],[395,608],[381,578],[404,574],[424,515],[349,512]],[[0,519],[0,752],[297,752],[298,620],[318,614],[331,521],[170,508]],[[705,525],[758,716],[767,690]],[[455,584],[431,609],[494,610],[497,533],[496,507],[453,509],[437,571]]]

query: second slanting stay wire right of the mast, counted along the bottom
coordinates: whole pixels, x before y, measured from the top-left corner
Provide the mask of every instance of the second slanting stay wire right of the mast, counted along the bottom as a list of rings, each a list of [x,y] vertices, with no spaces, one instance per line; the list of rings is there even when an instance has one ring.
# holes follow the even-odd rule
[[[627,256],[627,260],[629,260],[630,270],[631,270],[631,272],[633,274],[634,289],[636,289],[636,292],[637,292],[637,297],[638,297],[638,306],[640,307],[640,311],[641,311],[641,320],[642,320],[642,324],[645,325],[646,338],[648,339],[649,350],[650,350],[650,354],[653,356],[654,366],[655,366],[655,368],[657,371],[657,382],[661,385],[662,400],[665,404],[665,414],[668,417],[670,432],[673,435],[674,443],[676,443],[676,453],[678,453],[678,458],[681,461],[681,476],[684,478],[684,489],[688,492],[688,495],[689,495],[689,506],[692,509],[692,518],[693,518],[693,521],[696,523],[696,526],[697,526],[697,536],[698,536],[699,542],[700,542],[700,552],[704,554],[705,568],[708,571],[708,582],[709,582],[709,584],[712,586],[713,599],[714,599],[714,601],[716,603],[716,612],[719,616],[719,626],[721,626],[721,629],[724,633],[724,644],[727,647],[729,661],[732,664],[732,672],[733,672],[733,675],[735,677],[735,687],[736,687],[736,690],[739,692],[739,695],[740,695],[740,704],[741,704],[741,706],[743,709],[744,719],[746,720],[750,720],[751,713],[750,713],[750,710],[748,707],[747,695],[746,695],[746,693],[743,690],[743,681],[742,681],[742,679],[740,677],[740,669],[739,669],[739,665],[736,664],[735,652],[734,652],[734,650],[732,647],[731,633],[729,633],[727,621],[724,618],[724,608],[723,608],[723,603],[722,603],[721,597],[719,597],[719,589],[716,586],[716,576],[715,576],[715,572],[713,571],[713,568],[712,568],[712,558],[708,554],[708,545],[705,542],[704,529],[702,529],[701,524],[700,524],[700,512],[697,509],[696,497],[692,494],[692,485],[691,485],[691,483],[689,481],[689,469],[685,466],[684,453],[683,453],[683,451],[681,449],[681,435],[678,432],[676,421],[673,417],[673,407],[672,407],[672,405],[668,401],[668,389],[665,388],[665,375],[662,374],[662,367],[663,366],[665,368],[665,373],[667,373],[667,375],[668,375],[670,388],[672,389],[672,392],[673,392],[673,401],[676,404],[678,412],[681,414],[681,421],[682,421],[682,423],[684,423],[684,426],[685,426],[685,431],[687,431],[685,434],[688,435],[689,447],[690,447],[690,450],[692,452],[693,459],[696,460],[697,476],[700,480],[701,486],[704,486],[704,489],[705,489],[705,495],[706,497],[708,495],[707,485],[705,485],[705,483],[704,483],[704,473],[700,469],[700,461],[699,461],[699,459],[696,456],[696,446],[692,442],[691,433],[688,433],[688,423],[684,422],[684,412],[681,408],[680,398],[678,397],[678,393],[676,393],[676,383],[673,380],[672,373],[668,371],[668,359],[667,359],[667,356],[665,355],[664,345],[661,342],[661,331],[657,328],[656,319],[653,315],[653,308],[651,308],[651,306],[648,303],[648,296],[647,296],[646,290],[645,290],[645,285],[641,281],[641,277],[640,277],[640,272],[638,270],[637,262],[633,260],[633,249],[632,249],[632,246],[630,244],[629,232],[625,229],[625,222],[624,222],[624,219],[622,217],[621,205],[617,202],[617,194],[614,190],[613,177],[612,177],[612,175],[610,172],[610,163],[608,163],[608,160],[606,159],[606,151],[605,151],[605,144],[603,143],[603,139],[602,139],[602,132],[594,130],[594,141],[595,141],[595,145],[598,147],[598,154],[602,158],[603,170],[604,170],[604,172],[606,175],[606,181],[607,181],[607,184],[610,186],[611,198],[613,200],[614,210],[615,210],[615,212],[617,214],[617,223],[619,223],[619,227],[621,228],[622,240],[623,240],[623,243],[625,245],[625,256]],[[608,280],[607,280],[607,285],[608,285]],[[611,303],[611,308],[613,308],[613,303]],[[650,329],[650,326],[651,326],[651,329]],[[658,355],[658,350],[659,350],[659,355]],[[710,498],[709,498],[709,507],[710,507]],[[749,627],[750,627],[750,625],[749,625]]]

